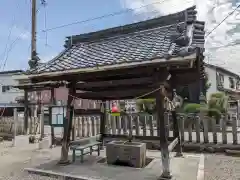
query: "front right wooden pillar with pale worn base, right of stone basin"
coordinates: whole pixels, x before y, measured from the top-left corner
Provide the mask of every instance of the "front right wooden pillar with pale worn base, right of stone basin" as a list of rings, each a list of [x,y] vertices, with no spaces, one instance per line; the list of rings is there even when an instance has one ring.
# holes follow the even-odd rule
[[[170,158],[168,151],[168,139],[165,129],[165,118],[164,118],[164,96],[163,96],[164,86],[156,92],[156,107],[157,107],[157,121],[160,126],[160,147],[162,156],[162,166],[163,172],[161,175],[162,179],[171,179],[170,174]]]

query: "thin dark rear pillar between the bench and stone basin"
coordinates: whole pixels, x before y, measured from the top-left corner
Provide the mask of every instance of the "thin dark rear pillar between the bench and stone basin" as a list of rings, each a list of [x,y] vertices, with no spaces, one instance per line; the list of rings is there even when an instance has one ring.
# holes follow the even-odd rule
[[[101,108],[101,117],[100,117],[100,134],[101,134],[101,149],[103,149],[104,146],[104,136],[105,136],[105,127],[106,127],[106,101],[103,101],[100,105]]]

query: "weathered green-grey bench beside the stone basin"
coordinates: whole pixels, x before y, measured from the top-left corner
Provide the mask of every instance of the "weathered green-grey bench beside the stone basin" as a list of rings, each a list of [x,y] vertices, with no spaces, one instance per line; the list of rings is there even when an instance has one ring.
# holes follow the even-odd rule
[[[100,145],[101,142],[98,141],[98,136],[89,137],[80,139],[78,141],[73,141],[70,144],[70,150],[73,151],[72,153],[72,161],[75,162],[76,160],[76,152],[80,151],[80,158],[81,162],[83,162],[83,156],[90,154],[92,155],[92,152],[97,151],[98,156],[100,155]]]

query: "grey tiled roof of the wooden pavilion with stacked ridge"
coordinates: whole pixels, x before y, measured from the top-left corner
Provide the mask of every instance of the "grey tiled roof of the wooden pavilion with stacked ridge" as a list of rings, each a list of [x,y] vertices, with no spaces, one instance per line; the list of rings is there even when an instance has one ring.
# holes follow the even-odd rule
[[[171,60],[204,47],[204,22],[195,6],[130,25],[67,38],[66,49],[31,74],[82,69],[156,58]],[[191,29],[189,31],[189,29]]]

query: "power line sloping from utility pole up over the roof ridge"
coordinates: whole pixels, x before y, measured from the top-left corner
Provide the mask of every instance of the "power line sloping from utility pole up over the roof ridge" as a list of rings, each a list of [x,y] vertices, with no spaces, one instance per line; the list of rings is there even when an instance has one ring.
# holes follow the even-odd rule
[[[120,15],[120,14],[124,14],[124,13],[128,13],[128,12],[132,12],[132,11],[135,11],[135,10],[138,10],[138,9],[142,9],[142,8],[154,5],[154,4],[162,4],[165,1],[166,0],[162,0],[161,2],[159,2],[159,1],[158,2],[154,2],[154,3],[147,4],[147,5],[144,5],[144,6],[140,6],[138,8],[134,8],[134,9],[125,9],[125,10],[114,12],[114,13],[111,13],[111,14],[105,14],[105,15],[102,15],[102,16],[89,18],[89,19],[85,19],[85,20],[82,20],[82,21],[76,21],[76,22],[72,22],[72,23],[69,23],[69,24],[63,24],[63,25],[56,26],[56,27],[49,28],[49,29],[45,29],[45,30],[42,30],[42,31],[43,32],[47,32],[47,31],[52,31],[52,30],[55,30],[55,29],[64,28],[64,27],[67,27],[67,26],[72,26],[72,25],[76,25],[76,24],[86,23],[86,22],[89,22],[89,21],[104,19],[104,18],[107,18],[107,17],[112,17],[112,16],[116,16],[116,15]]]

